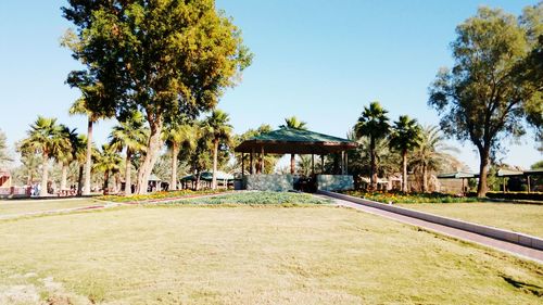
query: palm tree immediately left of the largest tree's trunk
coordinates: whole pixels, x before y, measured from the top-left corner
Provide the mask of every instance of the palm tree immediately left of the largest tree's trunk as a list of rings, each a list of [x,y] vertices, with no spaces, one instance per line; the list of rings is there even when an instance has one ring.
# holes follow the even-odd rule
[[[113,127],[110,134],[110,143],[122,151],[126,148],[125,158],[125,195],[131,193],[131,158],[134,153],[142,152],[147,148],[149,129],[146,128],[146,118],[141,112],[130,112],[125,119]]]

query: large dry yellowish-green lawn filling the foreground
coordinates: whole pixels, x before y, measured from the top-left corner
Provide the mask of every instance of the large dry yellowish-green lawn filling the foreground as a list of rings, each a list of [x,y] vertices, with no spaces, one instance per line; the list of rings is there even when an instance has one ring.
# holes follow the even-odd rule
[[[543,294],[542,265],[326,205],[130,206],[0,221],[0,304],[538,304]]]

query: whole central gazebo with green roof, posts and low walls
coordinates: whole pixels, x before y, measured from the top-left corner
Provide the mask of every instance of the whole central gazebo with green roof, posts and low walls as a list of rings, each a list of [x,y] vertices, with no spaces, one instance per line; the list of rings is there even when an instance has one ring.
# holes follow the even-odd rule
[[[317,189],[342,190],[354,187],[349,176],[348,154],[357,143],[351,140],[296,128],[280,128],[243,141],[235,152],[241,153],[243,185],[247,189],[287,191],[293,189],[295,169],[290,175],[263,175],[266,154],[306,154],[312,155],[312,176]],[[244,173],[245,154],[249,154],[249,175]],[[340,175],[325,174],[325,156],[340,156]],[[320,173],[316,175],[315,157],[320,157]],[[255,166],[255,158],[256,166]]]

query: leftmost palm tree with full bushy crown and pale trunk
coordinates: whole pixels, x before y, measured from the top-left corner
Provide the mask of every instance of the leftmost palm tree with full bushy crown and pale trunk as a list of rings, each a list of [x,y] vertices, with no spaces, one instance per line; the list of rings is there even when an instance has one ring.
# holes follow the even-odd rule
[[[42,175],[40,195],[47,196],[47,182],[49,178],[49,158],[61,151],[70,150],[70,140],[63,132],[63,128],[56,125],[56,118],[46,118],[38,116],[38,119],[30,125],[28,137],[23,140],[21,150],[27,153],[41,153]]]

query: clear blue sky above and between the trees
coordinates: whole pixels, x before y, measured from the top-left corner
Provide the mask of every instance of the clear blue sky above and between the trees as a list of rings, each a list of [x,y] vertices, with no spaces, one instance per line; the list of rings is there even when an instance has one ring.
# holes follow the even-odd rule
[[[219,0],[217,5],[243,30],[255,54],[243,82],[219,103],[237,132],[262,123],[278,126],[296,115],[310,128],[344,136],[364,105],[379,100],[395,119],[401,114],[437,124],[427,88],[440,66],[451,66],[449,45],[457,24],[479,5],[519,14],[536,1]],[[59,38],[71,25],[64,1],[0,2],[0,129],[12,143],[38,114],[86,132],[85,117],[67,109],[78,91],[64,85],[78,64]],[[96,128],[102,142],[112,122]],[[503,154],[528,167],[542,158],[533,132]],[[475,148],[455,143],[458,157],[477,169]]]

